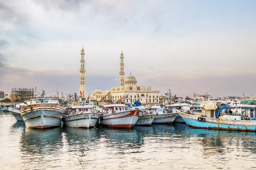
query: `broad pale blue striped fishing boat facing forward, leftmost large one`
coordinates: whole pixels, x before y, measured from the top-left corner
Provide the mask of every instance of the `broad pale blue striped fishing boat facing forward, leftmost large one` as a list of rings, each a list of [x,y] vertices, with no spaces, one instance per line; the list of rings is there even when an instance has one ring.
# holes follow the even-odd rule
[[[26,127],[46,129],[61,125],[64,110],[60,107],[58,99],[43,96],[41,99],[30,99],[26,104],[20,109],[20,116]]]

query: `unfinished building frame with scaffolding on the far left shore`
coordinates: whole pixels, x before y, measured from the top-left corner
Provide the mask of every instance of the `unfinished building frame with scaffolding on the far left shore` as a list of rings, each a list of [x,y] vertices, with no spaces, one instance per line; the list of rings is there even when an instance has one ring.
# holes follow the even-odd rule
[[[19,99],[20,102],[34,98],[34,88],[12,88],[12,102]]]

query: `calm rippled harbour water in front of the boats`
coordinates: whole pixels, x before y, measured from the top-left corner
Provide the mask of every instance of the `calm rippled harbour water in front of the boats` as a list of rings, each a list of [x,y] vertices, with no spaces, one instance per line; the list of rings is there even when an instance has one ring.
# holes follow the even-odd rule
[[[0,169],[254,169],[256,133],[183,124],[33,130],[0,115]]]

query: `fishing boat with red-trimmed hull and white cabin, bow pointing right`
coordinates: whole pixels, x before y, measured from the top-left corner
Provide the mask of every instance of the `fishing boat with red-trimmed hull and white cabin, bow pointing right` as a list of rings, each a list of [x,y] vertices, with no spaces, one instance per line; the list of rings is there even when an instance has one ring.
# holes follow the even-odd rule
[[[104,105],[99,125],[106,127],[131,128],[142,115],[141,109],[127,109],[124,104]]]

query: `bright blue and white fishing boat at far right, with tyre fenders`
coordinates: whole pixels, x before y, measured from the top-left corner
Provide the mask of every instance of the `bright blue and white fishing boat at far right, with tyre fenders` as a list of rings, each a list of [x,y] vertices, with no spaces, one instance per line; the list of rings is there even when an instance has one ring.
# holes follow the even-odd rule
[[[255,112],[256,108],[243,108],[250,111],[238,113],[222,114],[223,110],[229,108],[228,105],[216,105],[215,102],[202,102],[200,105],[202,112],[198,114],[177,112],[185,120],[186,124],[191,127],[217,129],[217,130],[238,130],[238,131],[256,131]]]

